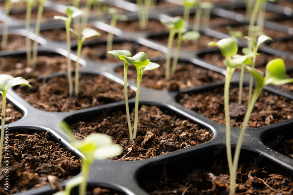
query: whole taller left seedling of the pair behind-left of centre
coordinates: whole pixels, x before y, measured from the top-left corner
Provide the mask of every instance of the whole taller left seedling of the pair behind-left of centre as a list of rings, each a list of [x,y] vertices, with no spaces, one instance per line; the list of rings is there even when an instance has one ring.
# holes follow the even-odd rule
[[[68,79],[68,84],[69,84],[69,95],[72,96],[73,93],[73,83],[72,83],[72,75],[71,75],[71,59],[69,58],[70,52],[71,52],[71,47],[70,47],[70,24],[72,18],[75,18],[76,16],[79,16],[83,14],[83,11],[77,9],[76,7],[73,6],[66,6],[66,11],[65,14],[68,16],[68,18],[63,17],[63,16],[54,16],[54,19],[58,20],[63,20],[65,22],[65,30],[66,30],[66,41],[67,41],[67,51],[68,51],[68,56],[67,56],[67,79]]]

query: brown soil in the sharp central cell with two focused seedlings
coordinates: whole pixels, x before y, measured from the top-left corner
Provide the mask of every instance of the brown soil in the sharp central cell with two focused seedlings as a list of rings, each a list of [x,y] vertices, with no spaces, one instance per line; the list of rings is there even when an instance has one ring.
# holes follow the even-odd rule
[[[134,161],[158,156],[212,139],[208,130],[201,129],[189,120],[182,120],[175,114],[169,115],[156,106],[142,106],[139,109],[137,138],[129,143],[127,117],[124,111],[114,111],[96,116],[93,120],[79,121],[71,125],[77,139],[83,139],[94,132],[109,135],[124,151],[113,160]],[[130,114],[134,121],[134,109]]]

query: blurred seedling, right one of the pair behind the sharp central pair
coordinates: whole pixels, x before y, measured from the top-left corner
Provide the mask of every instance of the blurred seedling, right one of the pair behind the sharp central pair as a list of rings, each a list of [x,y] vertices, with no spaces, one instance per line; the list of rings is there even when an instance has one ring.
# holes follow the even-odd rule
[[[189,31],[189,32],[185,33],[188,29],[187,29],[186,23],[184,22],[184,20],[181,17],[179,17],[178,22],[176,22],[176,28],[178,30],[178,43],[176,45],[175,55],[174,55],[172,68],[171,68],[172,74],[175,74],[175,71],[176,71],[176,66],[178,63],[178,56],[179,56],[179,51],[180,51],[180,46],[181,46],[182,41],[185,39],[196,40],[198,37],[200,37],[199,32]]]

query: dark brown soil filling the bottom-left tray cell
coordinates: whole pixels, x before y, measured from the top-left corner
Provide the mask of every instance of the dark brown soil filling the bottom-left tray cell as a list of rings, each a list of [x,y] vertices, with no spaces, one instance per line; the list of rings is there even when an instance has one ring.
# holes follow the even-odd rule
[[[48,185],[49,175],[57,180],[66,180],[80,172],[80,159],[60,144],[49,132],[30,134],[9,134],[9,191],[4,190],[4,169],[1,166],[1,194],[14,194],[31,188]],[[4,151],[3,151],[4,152]]]

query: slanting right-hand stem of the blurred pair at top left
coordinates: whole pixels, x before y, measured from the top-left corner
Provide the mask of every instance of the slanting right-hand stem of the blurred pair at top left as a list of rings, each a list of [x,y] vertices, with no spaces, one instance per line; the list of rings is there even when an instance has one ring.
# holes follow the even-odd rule
[[[35,67],[36,65],[36,61],[37,61],[37,55],[38,55],[38,38],[40,35],[40,25],[41,25],[41,18],[42,18],[42,13],[44,10],[44,2],[40,1],[39,4],[39,9],[38,9],[38,13],[37,13],[37,20],[36,20],[36,28],[35,28],[35,40],[33,43],[33,59],[32,59],[32,67]]]

